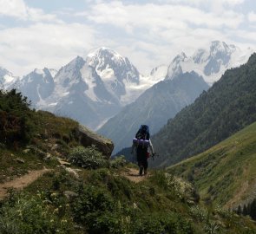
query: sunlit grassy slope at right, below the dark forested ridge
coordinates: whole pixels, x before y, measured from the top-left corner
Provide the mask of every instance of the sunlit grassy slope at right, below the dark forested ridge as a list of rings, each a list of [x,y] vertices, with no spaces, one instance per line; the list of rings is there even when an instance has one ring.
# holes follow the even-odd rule
[[[256,122],[204,153],[167,168],[206,202],[237,207],[256,198]]]

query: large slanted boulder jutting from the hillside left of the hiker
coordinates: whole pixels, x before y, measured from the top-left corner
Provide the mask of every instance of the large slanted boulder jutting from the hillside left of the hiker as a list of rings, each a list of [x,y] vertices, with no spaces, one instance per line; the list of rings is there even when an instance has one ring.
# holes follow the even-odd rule
[[[99,152],[101,152],[108,159],[110,158],[114,149],[112,140],[104,138],[82,125],[76,128],[76,136],[79,138],[82,146],[88,147],[95,145]]]

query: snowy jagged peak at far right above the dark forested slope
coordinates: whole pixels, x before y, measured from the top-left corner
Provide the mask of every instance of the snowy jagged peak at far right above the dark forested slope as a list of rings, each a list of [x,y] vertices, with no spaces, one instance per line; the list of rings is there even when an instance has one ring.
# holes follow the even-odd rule
[[[166,80],[194,71],[201,75],[209,85],[212,85],[214,81],[220,79],[226,69],[246,63],[252,53],[252,49],[242,51],[232,44],[214,41],[209,49],[198,49],[190,57],[183,52],[177,55],[168,67]]]

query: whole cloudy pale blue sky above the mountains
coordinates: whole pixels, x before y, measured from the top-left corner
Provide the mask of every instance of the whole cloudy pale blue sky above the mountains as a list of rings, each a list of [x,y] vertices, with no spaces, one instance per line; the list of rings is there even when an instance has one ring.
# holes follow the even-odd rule
[[[18,76],[102,46],[147,75],[215,40],[256,48],[256,1],[0,0],[0,67]]]

